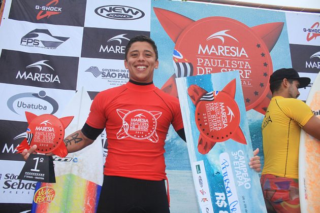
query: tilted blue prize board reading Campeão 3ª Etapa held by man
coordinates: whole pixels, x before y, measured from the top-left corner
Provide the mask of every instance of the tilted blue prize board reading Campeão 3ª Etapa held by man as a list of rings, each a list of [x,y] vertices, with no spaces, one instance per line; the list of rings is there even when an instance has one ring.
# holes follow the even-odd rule
[[[239,72],[176,81],[200,211],[266,212]]]

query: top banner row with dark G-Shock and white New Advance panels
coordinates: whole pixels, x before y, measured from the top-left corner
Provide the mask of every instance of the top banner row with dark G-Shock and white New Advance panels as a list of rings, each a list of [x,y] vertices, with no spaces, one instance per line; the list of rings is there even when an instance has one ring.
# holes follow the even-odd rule
[[[84,15],[85,14],[85,15]],[[56,25],[84,26],[85,23],[103,22],[106,20],[123,23],[141,20],[148,23],[150,1],[101,1],[79,0],[13,0],[9,12],[9,19],[28,21],[33,23],[49,23]],[[146,24],[147,25],[147,24]],[[147,27],[147,26],[146,26]]]

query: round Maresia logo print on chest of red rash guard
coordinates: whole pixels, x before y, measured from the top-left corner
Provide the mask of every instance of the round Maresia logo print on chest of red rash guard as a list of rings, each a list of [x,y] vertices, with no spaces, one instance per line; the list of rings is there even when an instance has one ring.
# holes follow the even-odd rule
[[[155,131],[156,120],[162,115],[162,112],[117,109],[117,113],[122,119],[122,127],[117,133],[118,139],[131,137],[138,140],[148,139],[157,143],[159,137]]]

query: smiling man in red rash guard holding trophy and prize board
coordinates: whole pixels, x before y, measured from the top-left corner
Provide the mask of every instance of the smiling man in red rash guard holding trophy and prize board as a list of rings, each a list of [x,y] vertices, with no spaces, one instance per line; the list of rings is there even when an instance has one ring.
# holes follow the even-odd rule
[[[64,140],[68,152],[76,152],[106,128],[108,156],[97,212],[170,212],[165,139],[170,124],[183,140],[185,135],[178,99],[153,84],[158,63],[154,41],[144,35],[132,38],[124,60],[129,82],[100,92],[83,128]],[[24,159],[35,149],[25,150]],[[250,165],[260,171],[260,157]]]

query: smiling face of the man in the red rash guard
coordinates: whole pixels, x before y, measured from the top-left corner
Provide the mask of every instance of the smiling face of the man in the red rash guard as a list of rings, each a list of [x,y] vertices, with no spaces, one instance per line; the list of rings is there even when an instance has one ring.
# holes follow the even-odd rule
[[[133,43],[127,53],[127,60],[124,60],[130,79],[139,83],[152,82],[153,71],[158,68],[158,64],[155,52],[148,42]]]

